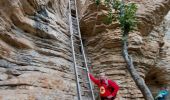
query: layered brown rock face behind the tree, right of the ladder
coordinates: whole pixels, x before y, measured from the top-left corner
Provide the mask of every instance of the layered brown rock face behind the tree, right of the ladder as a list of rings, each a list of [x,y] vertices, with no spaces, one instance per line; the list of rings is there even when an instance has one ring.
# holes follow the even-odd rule
[[[165,31],[161,25],[158,25],[170,9],[170,0],[130,1],[138,5],[139,24],[138,30],[129,34],[129,53],[133,57],[139,74],[149,84],[149,80],[153,80],[149,79],[150,72],[159,66],[160,52],[164,45]],[[143,100],[143,96],[127,71],[126,63],[122,57],[119,23],[113,22],[109,25],[105,23],[107,9],[103,5],[97,8],[94,2],[90,2],[81,20],[81,30],[86,40],[93,71],[98,74],[102,69],[110,79],[117,81],[121,87],[120,94],[124,99]],[[168,75],[168,73],[165,74]],[[169,82],[162,84],[168,85]]]

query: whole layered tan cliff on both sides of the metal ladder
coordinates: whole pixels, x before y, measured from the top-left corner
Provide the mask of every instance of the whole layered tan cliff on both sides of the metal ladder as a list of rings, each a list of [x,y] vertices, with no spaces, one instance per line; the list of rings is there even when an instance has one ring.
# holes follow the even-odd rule
[[[138,6],[128,50],[156,96],[170,87],[170,0],[125,1]],[[68,3],[0,0],[0,100],[77,100]],[[116,81],[122,100],[144,100],[126,69],[119,23],[106,24],[107,8],[94,0],[77,0],[77,7],[92,73],[102,69]]]

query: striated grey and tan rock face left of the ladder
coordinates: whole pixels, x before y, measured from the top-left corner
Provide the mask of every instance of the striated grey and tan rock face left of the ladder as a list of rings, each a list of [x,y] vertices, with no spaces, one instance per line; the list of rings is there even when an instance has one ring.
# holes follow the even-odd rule
[[[0,0],[0,100],[73,100],[68,0]]]

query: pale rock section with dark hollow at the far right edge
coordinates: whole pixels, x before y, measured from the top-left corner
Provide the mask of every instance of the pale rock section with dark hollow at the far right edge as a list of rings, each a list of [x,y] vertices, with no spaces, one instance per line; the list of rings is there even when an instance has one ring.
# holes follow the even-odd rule
[[[146,81],[149,85],[151,91],[153,92],[153,95],[156,95],[160,88],[162,87],[169,87],[170,86],[170,67],[169,67],[169,26],[170,26],[170,13],[165,17],[162,24],[157,27],[157,29],[162,30],[162,33],[165,33],[164,36],[164,45],[160,48],[160,54],[159,58],[157,60],[157,63],[154,67],[154,70],[151,70],[147,76]],[[170,99],[168,97],[167,99]]]

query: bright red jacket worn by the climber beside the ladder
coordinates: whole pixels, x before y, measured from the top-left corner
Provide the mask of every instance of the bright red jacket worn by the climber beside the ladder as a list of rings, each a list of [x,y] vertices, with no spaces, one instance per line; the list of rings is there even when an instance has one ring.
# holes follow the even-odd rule
[[[111,81],[111,80],[106,80],[105,82],[102,82],[99,79],[94,78],[92,74],[89,74],[90,79],[99,87],[100,89],[100,96],[101,97],[108,97],[112,95],[113,97],[116,96],[119,86]]]

